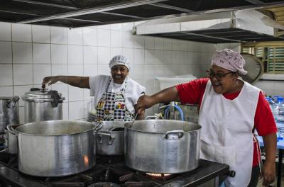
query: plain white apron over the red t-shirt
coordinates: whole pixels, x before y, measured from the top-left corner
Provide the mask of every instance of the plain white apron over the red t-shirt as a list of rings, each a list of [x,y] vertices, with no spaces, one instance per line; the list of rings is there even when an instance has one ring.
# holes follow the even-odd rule
[[[251,180],[253,163],[254,115],[259,89],[244,81],[234,100],[217,94],[209,80],[200,106],[198,123],[202,125],[200,158],[228,164],[236,176],[226,186],[245,187]]]

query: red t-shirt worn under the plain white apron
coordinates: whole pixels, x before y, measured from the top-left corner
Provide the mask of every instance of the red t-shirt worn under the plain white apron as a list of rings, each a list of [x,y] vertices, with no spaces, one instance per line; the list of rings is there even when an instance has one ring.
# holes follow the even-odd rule
[[[198,104],[201,106],[204,91],[209,79],[195,79],[185,84],[175,86],[178,89],[181,103]],[[232,94],[223,94],[227,99],[233,100],[239,96],[240,91]],[[254,115],[254,128],[257,130],[258,135],[266,136],[271,133],[276,133],[277,128],[271,108],[262,92],[259,93],[258,103],[256,106],[256,114]],[[258,153],[259,154],[259,153]],[[253,144],[253,166],[258,165],[258,155],[256,143]]]

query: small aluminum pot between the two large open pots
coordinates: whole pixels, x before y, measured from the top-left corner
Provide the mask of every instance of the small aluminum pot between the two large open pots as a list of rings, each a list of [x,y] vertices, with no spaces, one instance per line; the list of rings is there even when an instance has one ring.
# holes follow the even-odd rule
[[[97,131],[97,154],[124,154],[124,121],[100,122]]]

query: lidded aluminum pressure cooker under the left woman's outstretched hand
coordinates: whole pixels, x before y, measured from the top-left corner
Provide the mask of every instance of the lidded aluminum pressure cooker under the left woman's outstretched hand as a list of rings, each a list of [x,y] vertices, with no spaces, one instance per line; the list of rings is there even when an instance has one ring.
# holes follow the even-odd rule
[[[44,120],[62,120],[62,98],[58,91],[33,88],[22,96],[25,123]]]

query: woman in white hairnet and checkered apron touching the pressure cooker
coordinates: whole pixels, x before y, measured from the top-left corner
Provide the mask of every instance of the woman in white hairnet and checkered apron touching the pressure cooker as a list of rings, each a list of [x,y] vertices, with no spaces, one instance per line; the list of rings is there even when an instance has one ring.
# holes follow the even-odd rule
[[[65,84],[91,89],[94,96],[94,107],[97,109],[97,121],[131,121],[136,112],[136,103],[145,87],[128,77],[131,67],[127,57],[114,56],[110,62],[111,76],[97,75],[94,77],[55,76],[45,77],[43,85],[62,81]],[[137,119],[143,119],[140,113]]]

